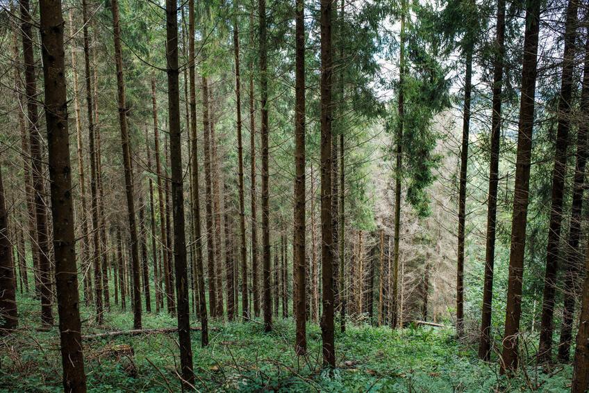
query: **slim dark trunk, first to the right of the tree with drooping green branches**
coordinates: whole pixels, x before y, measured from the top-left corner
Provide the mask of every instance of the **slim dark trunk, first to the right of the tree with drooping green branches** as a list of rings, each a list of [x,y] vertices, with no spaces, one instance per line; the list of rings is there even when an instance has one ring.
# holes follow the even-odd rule
[[[464,337],[464,246],[466,220],[466,175],[468,170],[468,134],[470,131],[470,93],[472,90],[472,47],[468,39],[464,48],[466,72],[464,77],[464,109],[460,185],[458,190],[458,259],[456,262],[456,335]]]

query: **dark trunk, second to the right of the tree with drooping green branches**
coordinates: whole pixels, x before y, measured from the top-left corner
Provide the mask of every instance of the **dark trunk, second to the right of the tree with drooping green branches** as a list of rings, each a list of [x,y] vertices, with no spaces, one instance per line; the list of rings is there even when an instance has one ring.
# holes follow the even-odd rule
[[[499,184],[499,141],[501,139],[501,88],[503,86],[503,56],[505,54],[505,0],[497,1],[496,29],[495,45],[497,45],[497,54],[495,54],[495,67],[493,70],[485,281],[483,284],[481,338],[479,340],[479,358],[487,361],[490,358],[491,348],[491,304],[493,298],[493,265],[495,261],[495,227],[497,223],[497,185]]]

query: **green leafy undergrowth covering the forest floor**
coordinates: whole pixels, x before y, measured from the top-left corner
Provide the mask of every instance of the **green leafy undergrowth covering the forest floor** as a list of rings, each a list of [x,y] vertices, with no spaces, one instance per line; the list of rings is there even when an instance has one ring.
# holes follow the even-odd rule
[[[40,307],[20,298],[19,329],[0,337],[0,392],[61,392],[58,331],[39,332]],[[28,303],[28,304],[27,304]],[[116,309],[116,310],[115,310]],[[130,311],[130,310],[128,310]],[[94,326],[83,310],[84,332],[131,329],[133,315],[118,307]],[[144,314],[144,328],[172,328],[167,314]],[[192,326],[199,326],[193,322]],[[392,332],[368,324],[336,329],[338,368],[321,365],[321,332],[308,323],[309,354],[294,355],[292,318],[274,331],[258,323],[212,321],[210,344],[192,332],[194,371],[201,392],[567,392],[572,367],[543,373],[527,367],[515,378],[499,376],[497,362],[476,358],[476,343],[458,342],[451,328],[410,326]],[[89,392],[179,392],[175,333],[108,337],[83,344]]]

